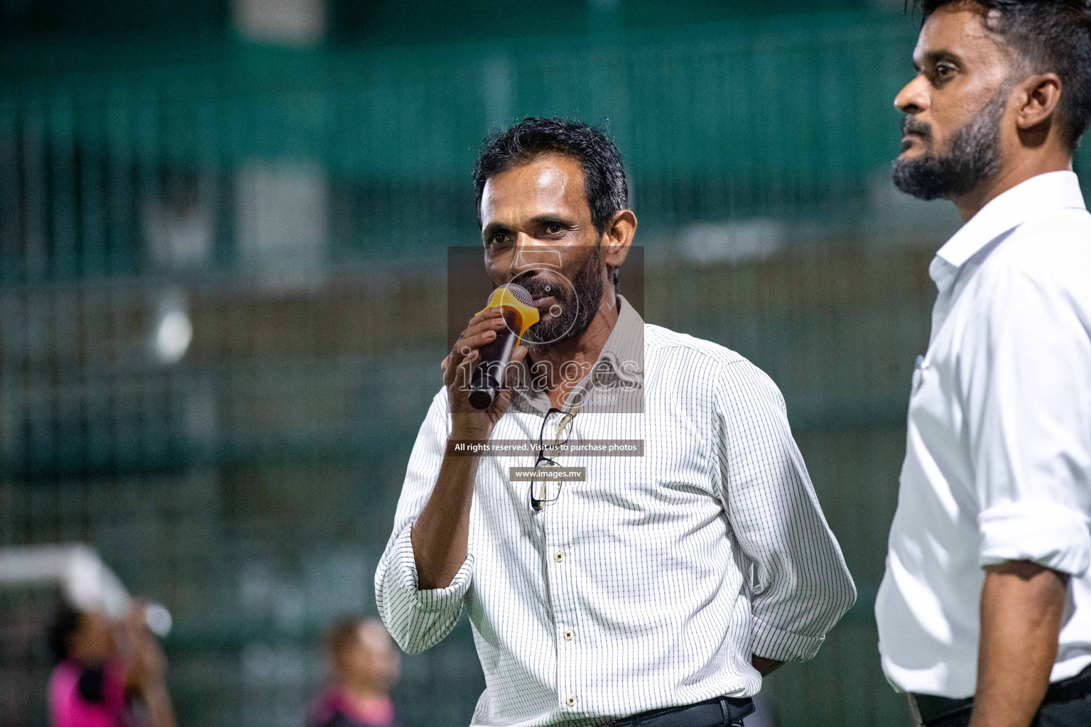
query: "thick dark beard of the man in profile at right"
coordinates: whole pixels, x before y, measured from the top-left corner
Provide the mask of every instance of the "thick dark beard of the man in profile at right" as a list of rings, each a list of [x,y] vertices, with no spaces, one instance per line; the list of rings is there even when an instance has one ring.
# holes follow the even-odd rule
[[[1000,169],[1000,119],[1007,108],[1008,89],[1000,88],[970,121],[951,134],[949,150],[937,157],[928,152],[916,159],[894,160],[894,183],[919,199],[954,199],[968,194]],[[902,135],[908,132],[932,138],[928,124],[906,117]]]

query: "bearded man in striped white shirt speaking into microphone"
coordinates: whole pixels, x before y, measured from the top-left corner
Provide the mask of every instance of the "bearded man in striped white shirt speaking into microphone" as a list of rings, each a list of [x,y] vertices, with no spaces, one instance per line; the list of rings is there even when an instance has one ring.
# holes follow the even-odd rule
[[[763,675],[813,657],[855,598],[783,399],[618,293],[636,216],[602,132],[526,119],[485,141],[475,180],[484,271],[542,317],[514,356],[535,375],[475,410],[465,381],[507,324],[473,316],[409,459],[380,614],[417,653],[466,607],[487,683],[475,726],[741,725]],[[599,396],[620,380],[639,384],[620,396],[637,405]],[[513,469],[542,457],[459,449],[513,441],[585,476],[528,483]],[[592,441],[643,456],[559,449]]]

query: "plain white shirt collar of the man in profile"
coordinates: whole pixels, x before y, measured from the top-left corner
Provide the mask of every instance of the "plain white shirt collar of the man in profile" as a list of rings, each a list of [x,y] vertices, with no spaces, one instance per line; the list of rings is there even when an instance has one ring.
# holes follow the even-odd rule
[[[1086,209],[1080,182],[1074,172],[1054,171],[1032,177],[982,207],[939,249],[936,257],[956,270],[998,235],[1043,214],[1058,209]],[[944,289],[954,276],[932,267],[932,278]],[[940,279],[937,279],[937,272]]]

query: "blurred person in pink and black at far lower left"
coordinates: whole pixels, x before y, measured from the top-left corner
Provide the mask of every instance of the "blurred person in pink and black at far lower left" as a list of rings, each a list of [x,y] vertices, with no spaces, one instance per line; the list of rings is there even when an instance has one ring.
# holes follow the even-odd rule
[[[175,727],[167,659],[143,605],[120,623],[62,605],[49,632],[51,727]]]

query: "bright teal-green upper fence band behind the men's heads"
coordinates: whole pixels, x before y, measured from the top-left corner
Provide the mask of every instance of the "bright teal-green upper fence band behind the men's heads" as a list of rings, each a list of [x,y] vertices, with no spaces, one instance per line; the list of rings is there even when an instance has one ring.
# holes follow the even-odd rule
[[[372,52],[199,45],[185,60],[147,48],[136,66],[9,76],[2,275],[145,270],[157,202],[206,209],[206,262],[231,264],[237,177],[255,163],[316,170],[328,255],[439,256],[472,243],[482,136],[527,114],[604,124],[650,227],[846,216],[897,153],[890,100],[913,33],[901,15],[824,15]],[[24,56],[9,51],[9,69],[34,65]]]

